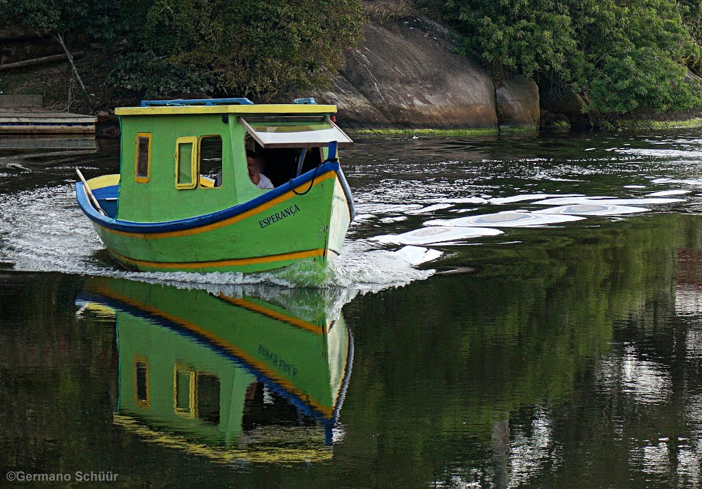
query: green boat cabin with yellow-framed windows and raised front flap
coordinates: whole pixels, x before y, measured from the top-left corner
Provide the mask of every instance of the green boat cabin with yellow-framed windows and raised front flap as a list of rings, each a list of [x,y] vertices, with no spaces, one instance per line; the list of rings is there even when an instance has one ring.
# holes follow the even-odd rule
[[[112,193],[106,187],[95,196],[107,215],[132,222],[187,219],[246,203],[269,192],[253,183],[249,166],[282,187],[336,159],[337,147],[352,140],[336,126],[335,112],[311,98],[281,105],[155,100],[116,109],[119,182],[108,175]]]

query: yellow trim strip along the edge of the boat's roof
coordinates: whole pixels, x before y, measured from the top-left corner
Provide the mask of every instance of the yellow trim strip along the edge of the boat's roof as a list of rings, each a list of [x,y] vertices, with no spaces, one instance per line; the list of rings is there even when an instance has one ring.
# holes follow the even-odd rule
[[[168,107],[117,107],[118,116],[176,114],[334,114],[336,105],[173,105]]]

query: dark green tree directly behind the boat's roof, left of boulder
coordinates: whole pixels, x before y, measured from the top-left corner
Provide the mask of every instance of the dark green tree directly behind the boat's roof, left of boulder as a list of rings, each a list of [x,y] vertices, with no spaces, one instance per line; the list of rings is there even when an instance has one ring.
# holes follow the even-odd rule
[[[270,100],[329,81],[364,14],[359,0],[156,0],[142,20],[117,86]]]

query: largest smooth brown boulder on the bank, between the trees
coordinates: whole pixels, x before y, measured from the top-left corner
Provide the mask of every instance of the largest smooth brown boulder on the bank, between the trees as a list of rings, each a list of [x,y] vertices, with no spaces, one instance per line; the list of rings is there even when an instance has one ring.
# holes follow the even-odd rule
[[[340,116],[366,126],[496,129],[488,72],[454,46],[445,28],[421,15],[366,25],[319,102],[343,106]]]

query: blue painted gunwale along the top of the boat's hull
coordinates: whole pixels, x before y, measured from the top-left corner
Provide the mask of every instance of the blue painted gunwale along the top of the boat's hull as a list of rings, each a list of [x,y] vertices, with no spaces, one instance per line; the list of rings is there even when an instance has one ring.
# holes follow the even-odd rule
[[[255,197],[249,201],[238,203],[235,206],[225,208],[222,210],[217,210],[213,213],[197,215],[194,217],[187,217],[186,219],[173,220],[173,221],[161,221],[161,222],[135,222],[135,221],[124,221],[119,220],[114,217],[107,217],[102,215],[96,210],[92,204],[88,201],[88,196],[84,191],[84,185],[82,182],[76,182],[76,198],[78,205],[83,210],[83,212],[95,222],[100,227],[107,228],[109,230],[114,230],[117,232],[126,232],[128,234],[157,234],[164,232],[178,232],[190,229],[197,229],[199,227],[204,227],[207,225],[213,225],[217,222],[236,217],[237,215],[248,212],[249,210],[254,210],[259,206],[263,206],[265,203],[270,202],[278,197],[284,196],[285,194],[291,193],[293,189],[300,187],[300,185],[305,185],[305,183],[312,180],[321,180],[320,177],[326,175],[327,173],[336,173],[336,178],[343,188],[344,194],[346,196],[346,202],[349,207],[349,212],[351,220],[354,220],[356,211],[351,196],[351,189],[348,186],[348,182],[343,175],[343,171],[338,162],[327,161],[322,163],[314,170],[310,170],[307,173],[303,173],[299,177],[293,178],[292,185],[290,182],[283,184],[279,187],[269,190],[263,195]],[[326,177],[325,177],[326,180]],[[314,184],[312,184],[314,185]]]

